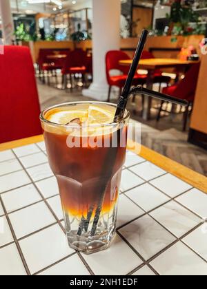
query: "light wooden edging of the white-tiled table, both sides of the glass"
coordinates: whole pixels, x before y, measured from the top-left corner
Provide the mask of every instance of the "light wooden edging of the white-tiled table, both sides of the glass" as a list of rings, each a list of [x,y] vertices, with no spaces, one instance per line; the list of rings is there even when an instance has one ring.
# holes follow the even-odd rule
[[[8,149],[14,149],[16,147],[22,147],[24,145],[42,141],[43,135],[32,136],[30,138],[23,138],[21,140],[14,140],[12,142],[5,142],[3,144],[0,144],[0,151],[6,151]],[[175,175],[177,178],[184,180],[184,182],[187,182],[196,189],[199,189],[201,191],[204,191],[204,193],[207,193],[206,176],[201,175],[196,171],[193,171],[192,169],[188,169],[187,167],[184,167],[182,164],[179,164],[174,160],[170,160],[166,156],[162,156],[161,154],[157,153],[156,151],[152,151],[147,147],[144,147],[142,145],[141,147],[139,145],[137,146],[135,145],[135,142],[133,142],[132,140],[128,140],[128,149],[130,151],[135,152],[137,155],[141,156],[141,158],[144,158],[149,162],[152,162],[153,164],[157,165],[157,167],[164,169],[164,171],[172,173],[172,175]]]

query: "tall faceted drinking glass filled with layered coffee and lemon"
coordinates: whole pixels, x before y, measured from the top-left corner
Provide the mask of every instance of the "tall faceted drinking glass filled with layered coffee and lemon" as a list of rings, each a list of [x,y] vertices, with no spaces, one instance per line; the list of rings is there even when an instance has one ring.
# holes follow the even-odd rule
[[[70,247],[90,254],[115,235],[130,114],[116,105],[66,103],[41,114],[50,167],[57,178]]]

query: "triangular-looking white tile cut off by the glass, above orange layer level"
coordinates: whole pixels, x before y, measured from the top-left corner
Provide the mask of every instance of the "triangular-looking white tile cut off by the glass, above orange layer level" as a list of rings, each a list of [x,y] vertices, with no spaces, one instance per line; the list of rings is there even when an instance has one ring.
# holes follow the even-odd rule
[[[139,184],[143,184],[144,180],[141,180],[141,178],[137,177],[134,173],[128,171],[128,169],[125,169],[122,171],[121,176],[121,191],[128,191],[129,189],[134,188],[135,186],[139,186]]]

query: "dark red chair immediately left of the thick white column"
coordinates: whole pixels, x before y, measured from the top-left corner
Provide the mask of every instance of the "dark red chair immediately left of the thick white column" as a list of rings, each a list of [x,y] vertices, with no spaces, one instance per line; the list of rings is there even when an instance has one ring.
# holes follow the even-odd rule
[[[67,87],[67,75],[70,75],[70,84],[72,89],[72,75],[81,74],[83,84],[85,83],[85,74],[87,72],[87,52],[76,49],[68,54],[65,65],[62,68],[63,84]]]

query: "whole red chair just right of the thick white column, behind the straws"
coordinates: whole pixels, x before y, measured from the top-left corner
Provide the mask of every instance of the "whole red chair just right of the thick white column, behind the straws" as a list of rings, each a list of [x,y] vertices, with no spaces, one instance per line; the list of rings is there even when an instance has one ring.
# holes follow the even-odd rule
[[[130,57],[122,51],[119,50],[112,50],[107,52],[106,54],[106,78],[108,81],[109,85],[109,90],[108,90],[108,102],[110,102],[110,92],[112,86],[119,87],[120,89],[120,94],[121,90],[124,87],[126,83],[126,78],[128,76],[128,72],[130,67],[120,65],[119,61],[121,60],[129,60]],[[116,76],[111,76],[110,71],[112,69],[119,70],[121,72],[121,75],[116,75]],[[146,75],[139,75],[137,74],[134,78],[133,85],[144,85],[146,83]]]

